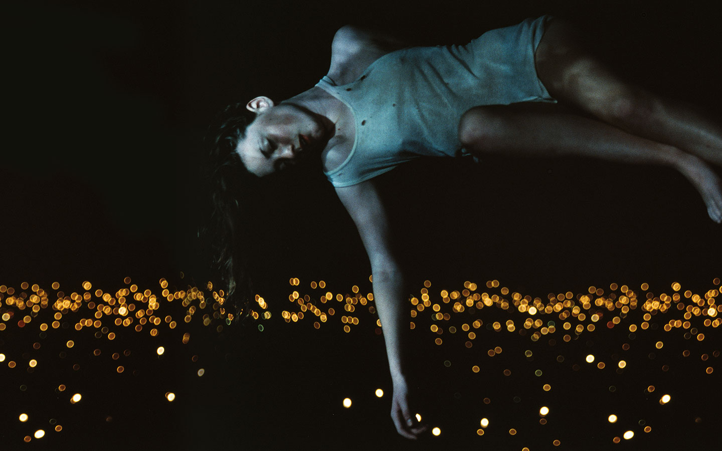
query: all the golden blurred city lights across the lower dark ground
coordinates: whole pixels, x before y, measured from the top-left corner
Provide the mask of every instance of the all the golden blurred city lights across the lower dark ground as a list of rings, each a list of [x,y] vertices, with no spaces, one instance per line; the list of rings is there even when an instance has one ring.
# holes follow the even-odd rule
[[[371,278],[369,281],[373,281]],[[18,328],[33,327],[36,323],[40,333],[48,333],[53,329],[72,327],[77,330],[92,330],[95,332],[96,338],[105,336],[109,341],[116,338],[116,333],[123,330],[135,330],[141,332],[144,328],[149,328],[151,336],[158,336],[161,325],[172,330],[179,324],[190,323],[193,318],[201,318],[204,326],[217,325],[215,330],[220,332],[223,324],[230,324],[233,315],[225,311],[224,292],[223,290],[212,291],[212,283],[206,285],[206,289],[210,290],[206,294],[204,290],[197,287],[188,286],[187,290],[178,290],[170,292],[168,289],[168,281],[160,279],[160,295],[154,294],[151,290],[141,291],[138,286],[131,284],[131,280],[126,278],[124,283],[128,286],[118,289],[114,293],[103,292],[96,289],[92,292],[92,284],[88,281],[82,284],[82,290],[65,294],[60,292],[59,284],[54,283],[52,288],[56,290],[54,296],[49,292],[40,288],[37,284],[30,286],[27,283],[21,284],[22,291],[17,291],[12,287],[5,285],[0,286],[0,330],[6,330],[10,325],[17,325]],[[487,290],[479,292],[479,286],[473,282],[466,281],[464,289],[448,291],[440,290],[439,299],[435,302],[433,294],[430,292],[431,282],[425,281],[424,287],[420,290],[419,297],[409,299],[411,318],[409,326],[417,328],[417,323],[422,324],[430,321],[430,325],[426,330],[430,330],[434,338],[434,343],[441,345],[443,343],[443,333],[464,335],[464,347],[467,349],[477,343],[475,339],[477,335],[482,333],[482,328],[486,328],[493,332],[507,331],[509,333],[518,333],[522,336],[529,336],[531,341],[539,341],[542,337],[547,338],[559,337],[563,334],[562,341],[569,342],[573,337],[584,333],[591,333],[596,328],[624,328],[624,333],[633,334],[640,330],[647,330],[653,323],[652,318],[657,317],[654,322],[656,325],[662,325],[665,332],[679,330],[684,333],[684,338],[694,341],[703,341],[705,333],[703,328],[717,328],[722,324],[722,319],[718,315],[722,312],[722,305],[716,304],[716,298],[720,294],[720,280],[715,279],[713,282],[717,287],[708,290],[705,294],[693,294],[690,291],[680,292],[681,286],[678,283],[671,285],[672,292],[670,294],[662,293],[658,296],[648,292],[648,285],[640,286],[641,292],[630,289],[629,286],[617,286],[611,284],[609,292],[605,294],[605,290],[596,286],[590,286],[586,293],[573,294],[565,292],[559,294],[549,294],[546,299],[539,297],[531,297],[517,292],[510,292],[509,289],[500,286],[496,280],[487,281],[485,286]],[[300,280],[297,278],[290,279],[290,285],[300,286]],[[26,291],[30,289],[30,291]],[[320,294],[313,296],[310,294],[301,294],[295,289],[289,296],[288,300],[294,306],[293,309],[283,310],[281,318],[286,323],[297,323],[307,318],[313,319],[313,327],[321,328],[321,324],[327,323],[330,318],[340,318],[345,333],[349,333],[352,326],[363,324],[374,324],[375,333],[382,333],[382,325],[380,320],[375,318],[375,307],[373,305],[373,293],[370,289],[367,294],[362,294],[359,286],[354,285],[350,290],[351,293],[326,291],[325,281],[312,281],[310,289],[321,290]],[[54,300],[51,300],[54,299]],[[173,319],[172,315],[160,315],[160,311],[164,307],[170,305],[171,302],[181,304],[185,310],[182,323]],[[256,319],[268,320],[271,318],[269,305],[264,297],[256,295],[255,302],[258,307],[251,310],[251,316]],[[168,307],[166,307],[168,308]],[[481,319],[473,318],[479,310],[494,308],[496,312],[508,312],[508,320],[495,321],[484,324]],[[631,312],[640,310],[640,324],[631,323]],[[208,312],[201,315],[204,312]],[[643,312],[643,314],[641,313]],[[364,318],[365,315],[370,315]],[[669,320],[661,320],[661,316],[666,315]],[[45,317],[51,316],[51,319],[45,320]],[[464,318],[472,317],[469,320]],[[72,318],[72,320],[70,320]],[[135,325],[134,325],[135,323]],[[461,323],[461,324],[459,324]],[[115,328],[111,331],[110,328]],[[258,325],[258,330],[263,330],[262,325]],[[190,334],[184,333],[182,343],[186,344],[190,340]],[[78,341],[80,343],[80,341]],[[35,343],[38,349],[40,343]],[[67,349],[73,349],[75,341],[68,340],[65,342]],[[625,346],[628,346],[625,343]],[[663,341],[657,341],[654,344],[656,350],[664,348]],[[625,348],[628,349],[628,348]],[[165,354],[165,346],[157,346],[155,354],[163,356]],[[125,351],[128,356],[130,351]],[[95,356],[100,355],[100,349],[96,349]],[[490,358],[503,353],[500,346],[495,346],[481,354]],[[531,357],[530,350],[525,351],[527,358]],[[718,356],[719,352],[714,351],[713,355]],[[685,350],[684,356],[689,356],[690,351]],[[113,360],[117,360],[120,354],[113,354]],[[580,356],[588,364],[594,364],[599,369],[604,369],[607,365],[598,359],[599,356],[587,354]],[[5,362],[8,357],[0,353],[0,362]],[[703,354],[702,359],[707,361],[708,354]],[[604,360],[604,356],[601,356]],[[193,356],[193,362],[196,362],[197,356]],[[558,356],[557,361],[562,362],[563,356]],[[608,362],[609,363],[609,362]],[[451,366],[451,362],[445,361],[445,366]],[[7,362],[9,368],[17,366],[15,360],[10,359]],[[625,359],[615,359],[612,361],[611,367],[615,367],[617,372],[622,372],[628,365]],[[666,365],[665,365],[666,366]],[[38,359],[27,359],[27,371],[32,372],[38,367]],[[575,364],[575,367],[578,367]],[[77,369],[77,368],[76,368]],[[124,371],[124,367],[119,365],[116,367],[118,373]],[[663,370],[666,371],[666,369]],[[480,372],[479,365],[471,366],[474,373]],[[199,377],[204,375],[203,368],[197,370]],[[713,367],[709,366],[705,369],[706,374],[712,374]],[[504,369],[503,374],[510,376],[510,369]],[[542,377],[541,369],[536,369],[534,374]],[[542,390],[548,392],[552,390],[551,385],[540,385]],[[58,387],[58,391],[65,390],[64,385]],[[610,387],[611,390],[611,387]],[[648,393],[655,390],[653,385],[647,388]],[[375,390],[375,396],[382,398],[384,392],[381,388]],[[165,393],[168,402],[175,400],[175,393]],[[75,393],[70,398],[71,404],[79,403],[82,399],[80,393]],[[665,405],[671,401],[670,395],[662,395],[659,398],[659,404]],[[484,401],[486,402],[486,400]],[[342,400],[344,408],[352,406],[350,398]],[[548,406],[539,407],[539,423],[547,424],[547,416],[550,414]],[[417,419],[421,421],[421,416],[416,414]],[[19,414],[19,421],[25,423],[28,421],[28,414]],[[618,421],[617,415],[612,413],[607,417],[609,423]],[[477,434],[484,435],[485,429],[489,426],[489,419],[483,418],[479,421],[479,429]],[[61,425],[55,426],[56,432],[62,430]],[[505,429],[506,430],[506,429]],[[624,429],[622,429],[624,430]],[[645,432],[650,432],[651,427],[646,426]],[[620,431],[621,432],[621,431]],[[435,436],[440,435],[439,427],[433,427],[431,433]],[[523,432],[516,428],[508,429],[508,434],[517,435]],[[35,439],[45,436],[43,429],[38,429],[32,434]],[[24,437],[25,442],[32,439],[30,435]],[[614,442],[620,442],[621,439],[632,439],[634,431],[627,430],[620,437],[614,437]],[[562,437],[563,438],[563,437]],[[554,439],[552,445],[560,446],[560,440]],[[526,449],[526,448],[525,448]]]

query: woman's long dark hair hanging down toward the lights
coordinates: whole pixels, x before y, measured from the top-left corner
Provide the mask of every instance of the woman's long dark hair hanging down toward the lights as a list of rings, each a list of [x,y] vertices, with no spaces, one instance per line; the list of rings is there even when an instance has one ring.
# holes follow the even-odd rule
[[[225,286],[225,307],[235,318],[250,314],[253,297],[248,264],[248,245],[242,239],[248,219],[244,217],[244,198],[256,175],[246,170],[235,148],[256,117],[245,103],[228,105],[209,126],[207,182],[211,214],[199,233],[211,254],[211,272]]]

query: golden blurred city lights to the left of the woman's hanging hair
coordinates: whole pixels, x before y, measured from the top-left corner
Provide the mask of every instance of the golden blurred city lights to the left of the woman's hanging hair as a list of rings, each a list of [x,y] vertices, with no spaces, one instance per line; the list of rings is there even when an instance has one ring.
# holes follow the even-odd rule
[[[181,274],[181,278],[183,274]],[[92,289],[90,281],[84,281],[77,291],[66,293],[60,290],[60,284],[54,282],[51,284],[51,290],[43,289],[38,284],[28,284],[22,282],[19,289],[12,286],[0,285],[0,331],[9,330],[9,328],[37,328],[40,338],[46,338],[53,333],[53,330],[70,329],[76,333],[91,332],[95,338],[105,337],[108,341],[116,341],[116,338],[126,330],[135,333],[148,330],[150,336],[157,337],[162,333],[163,328],[173,330],[184,324],[191,323],[192,320],[199,320],[204,326],[215,325],[214,330],[222,331],[223,325],[230,324],[233,315],[226,312],[224,307],[223,290],[213,291],[211,282],[206,284],[204,289],[195,286],[188,286],[186,290],[171,291],[168,281],[160,279],[160,293],[155,294],[150,289],[140,289],[136,284],[131,283],[131,279],[126,277],[123,279],[123,288],[114,292],[104,292],[101,289]],[[208,290],[207,292],[205,290]],[[258,299],[258,297],[257,297]],[[259,302],[259,307],[263,302]],[[180,320],[175,320],[174,316],[178,315],[178,310],[182,310],[179,315]],[[251,310],[251,316],[255,319],[270,318],[269,312],[263,312],[264,307],[260,307],[258,311]],[[162,314],[168,310],[168,314]],[[264,315],[264,313],[266,315]],[[182,343],[186,344],[190,341],[190,334],[184,333]],[[64,340],[64,348],[67,350],[77,349],[77,343],[87,343],[86,339],[76,338]],[[32,343],[32,350],[38,351],[41,347],[40,341]],[[163,356],[165,354],[164,346],[157,346],[155,354]],[[61,358],[65,358],[67,352],[61,352]],[[102,354],[101,349],[92,351],[94,356]],[[123,356],[129,356],[131,351],[126,349]],[[22,354],[21,359],[25,360],[27,353]],[[121,354],[113,353],[112,359],[118,360]],[[198,356],[193,356],[193,362],[196,362]],[[7,360],[7,362],[6,362]],[[27,372],[34,372],[40,369],[40,358],[27,358]],[[12,358],[4,353],[0,353],[0,362],[6,362],[10,369],[18,367],[22,361]],[[79,364],[74,364],[73,369],[78,371]],[[125,372],[126,367],[117,365],[114,367],[118,374]],[[134,372],[134,374],[137,374]],[[205,369],[197,370],[199,377],[205,374]],[[25,390],[26,385],[21,385],[21,390]],[[61,384],[56,387],[56,393],[66,390],[66,385]],[[165,393],[165,399],[175,400],[175,393]],[[82,400],[81,393],[74,393],[69,398],[69,403],[77,404]],[[110,417],[109,417],[110,418]],[[21,423],[27,423],[29,419],[28,413],[20,413],[18,420]],[[51,419],[56,432],[61,432],[63,426],[56,424],[55,419]],[[45,437],[45,430],[38,429],[33,434],[23,437],[25,442],[30,442],[32,438],[40,439]]]

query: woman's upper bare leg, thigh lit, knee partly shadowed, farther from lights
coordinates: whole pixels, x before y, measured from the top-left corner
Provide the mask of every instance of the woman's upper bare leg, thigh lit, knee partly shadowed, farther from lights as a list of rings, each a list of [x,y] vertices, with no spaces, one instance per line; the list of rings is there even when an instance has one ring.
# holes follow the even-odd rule
[[[722,165],[722,123],[692,105],[624,82],[591,56],[581,41],[566,22],[547,24],[535,61],[539,79],[552,97],[625,131]]]

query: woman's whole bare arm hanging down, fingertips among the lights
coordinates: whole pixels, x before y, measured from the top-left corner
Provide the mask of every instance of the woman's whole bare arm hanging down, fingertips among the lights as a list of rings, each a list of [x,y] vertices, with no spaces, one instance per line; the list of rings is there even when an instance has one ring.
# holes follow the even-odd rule
[[[406,318],[404,274],[399,268],[389,241],[388,221],[383,203],[372,180],[336,193],[354,220],[368,253],[373,274],[373,296],[386,342],[388,367],[393,381],[391,419],[399,434],[415,439],[426,427],[419,424],[409,407],[406,382],[406,353],[409,346],[409,320]]]

